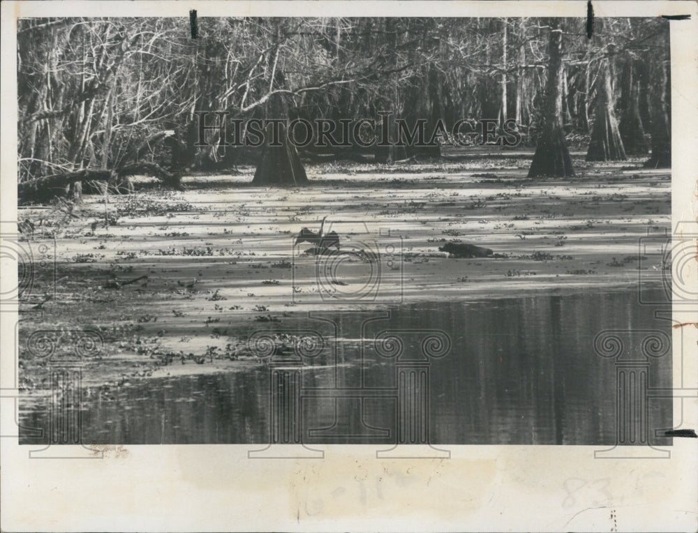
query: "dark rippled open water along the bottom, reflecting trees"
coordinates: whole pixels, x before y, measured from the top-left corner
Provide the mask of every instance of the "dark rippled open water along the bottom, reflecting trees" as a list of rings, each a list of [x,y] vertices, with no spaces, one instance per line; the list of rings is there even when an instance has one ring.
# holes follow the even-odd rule
[[[637,303],[636,290],[431,301],[388,313],[327,311],[302,328],[320,332],[324,347],[294,367],[302,385],[299,412],[296,422],[287,422],[295,423],[306,443],[396,442],[405,405],[398,373],[407,365],[428,368],[429,383],[410,393],[424,402],[419,423],[432,444],[612,445],[616,360],[595,353],[593,340],[609,329],[670,336],[670,322],[655,319],[654,311],[655,306]],[[397,358],[389,356],[389,344],[374,340],[396,329],[401,331],[394,336],[403,343]],[[420,366],[414,359],[422,358],[422,340],[435,330],[447,333],[450,351]],[[623,338],[626,354],[639,353],[641,334]],[[265,361],[227,373],[133,382],[108,396],[90,389],[83,398],[82,442],[269,442],[276,427],[272,411],[277,416],[279,410],[278,405],[272,409],[271,368]],[[671,386],[671,352],[649,364],[650,388]],[[671,401],[651,398],[648,405],[649,440],[667,444],[653,435],[655,429],[671,428]],[[47,428],[47,401],[22,400],[21,407],[22,426]],[[45,441],[22,439],[23,444]]]

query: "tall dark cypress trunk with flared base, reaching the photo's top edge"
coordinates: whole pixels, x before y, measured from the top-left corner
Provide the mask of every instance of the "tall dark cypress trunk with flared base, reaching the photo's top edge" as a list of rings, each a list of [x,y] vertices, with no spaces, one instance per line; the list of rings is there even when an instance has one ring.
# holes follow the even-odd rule
[[[544,125],[528,177],[574,176],[572,158],[563,128],[563,32],[557,20],[550,21],[548,82],[544,105]]]

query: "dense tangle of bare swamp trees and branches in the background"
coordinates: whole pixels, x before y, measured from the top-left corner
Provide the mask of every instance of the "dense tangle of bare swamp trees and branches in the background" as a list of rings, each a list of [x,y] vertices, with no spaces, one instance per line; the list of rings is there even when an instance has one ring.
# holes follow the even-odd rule
[[[230,118],[514,119],[531,172],[648,154],[670,165],[669,22],[657,18],[27,19],[17,28],[20,199],[86,179],[228,171],[260,150],[196,147],[196,112]],[[394,125],[391,126],[394,131]],[[439,147],[372,149],[378,162]],[[327,150],[325,150],[327,151]],[[334,149],[334,158],[366,149]],[[539,153],[540,152],[540,156]],[[327,154],[322,154],[327,155]],[[308,149],[302,156],[320,156]],[[537,160],[537,161],[536,161]]]

